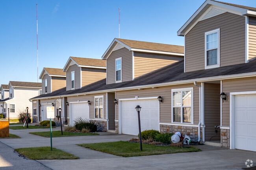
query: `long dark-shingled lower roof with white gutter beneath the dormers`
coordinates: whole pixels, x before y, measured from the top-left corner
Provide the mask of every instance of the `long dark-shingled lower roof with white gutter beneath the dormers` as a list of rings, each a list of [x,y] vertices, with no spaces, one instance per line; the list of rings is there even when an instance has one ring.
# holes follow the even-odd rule
[[[184,60],[175,62],[169,66],[153,71],[135,80],[106,84],[106,79],[82,87],[81,89],[66,91],[65,88],[53,93],[43,94],[32,99],[64,97],[70,95],[83,95],[90,93],[102,93],[118,90],[132,90],[157,86],[169,86],[174,84],[188,84],[195,81],[234,79],[243,76],[256,77],[256,60],[249,63],[224,66],[213,69],[203,69],[184,73]]]

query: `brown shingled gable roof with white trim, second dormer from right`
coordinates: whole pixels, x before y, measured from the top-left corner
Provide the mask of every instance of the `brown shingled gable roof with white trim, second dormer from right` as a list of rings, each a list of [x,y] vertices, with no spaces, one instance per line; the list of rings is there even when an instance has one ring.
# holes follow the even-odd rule
[[[102,59],[107,59],[117,44],[124,46],[130,51],[184,56],[184,46],[115,38],[105,53],[102,55]]]

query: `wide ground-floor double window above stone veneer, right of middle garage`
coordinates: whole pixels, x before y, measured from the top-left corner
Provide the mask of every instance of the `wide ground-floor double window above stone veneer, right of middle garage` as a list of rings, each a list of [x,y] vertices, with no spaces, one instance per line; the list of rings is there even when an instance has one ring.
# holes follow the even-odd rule
[[[192,123],[193,89],[173,89],[172,98],[173,122]]]

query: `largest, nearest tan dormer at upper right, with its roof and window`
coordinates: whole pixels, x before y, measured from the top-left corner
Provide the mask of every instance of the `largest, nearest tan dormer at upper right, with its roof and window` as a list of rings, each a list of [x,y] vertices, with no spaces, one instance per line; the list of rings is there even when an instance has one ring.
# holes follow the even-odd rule
[[[256,57],[256,8],[206,0],[178,31],[184,72],[250,62]]]

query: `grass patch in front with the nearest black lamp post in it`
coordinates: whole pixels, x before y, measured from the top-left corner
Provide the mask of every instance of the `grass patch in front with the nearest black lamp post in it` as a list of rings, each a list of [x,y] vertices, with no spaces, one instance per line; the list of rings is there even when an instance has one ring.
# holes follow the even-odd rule
[[[180,152],[199,152],[198,148],[194,147],[172,147],[172,146],[156,146],[150,144],[142,144],[142,151],[140,151],[139,143],[130,143],[125,141],[106,142],[106,143],[91,143],[78,144],[85,148],[105,152],[122,157],[134,157],[145,155],[161,155],[174,154]]]

